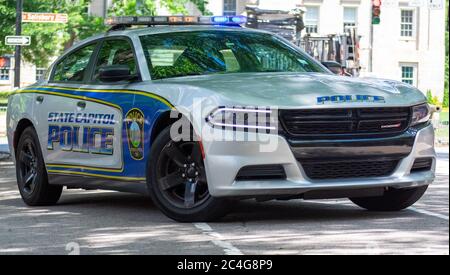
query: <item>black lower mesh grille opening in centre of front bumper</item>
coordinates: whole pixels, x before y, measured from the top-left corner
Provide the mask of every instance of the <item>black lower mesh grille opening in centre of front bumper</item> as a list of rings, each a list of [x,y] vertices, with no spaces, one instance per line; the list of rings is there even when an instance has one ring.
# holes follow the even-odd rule
[[[314,180],[383,177],[391,175],[399,160],[301,161],[306,176]]]

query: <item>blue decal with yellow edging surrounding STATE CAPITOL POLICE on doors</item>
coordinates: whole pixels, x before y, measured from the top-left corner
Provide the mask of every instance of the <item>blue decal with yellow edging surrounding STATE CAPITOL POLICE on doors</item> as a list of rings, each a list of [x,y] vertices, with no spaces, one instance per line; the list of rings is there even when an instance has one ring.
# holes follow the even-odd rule
[[[74,175],[85,175],[103,177],[117,180],[145,180],[146,165],[151,147],[151,133],[155,122],[162,113],[171,110],[173,106],[164,98],[142,91],[133,90],[95,90],[95,89],[72,89],[62,87],[28,87],[19,93],[48,93],[56,96],[82,97],[86,101],[94,101],[109,107],[117,106],[122,113],[122,169],[104,169],[96,167],[81,167],[77,165],[47,164],[51,173],[67,173]],[[132,109],[139,109],[144,114],[144,155],[141,159],[132,157],[127,137],[126,114]]]

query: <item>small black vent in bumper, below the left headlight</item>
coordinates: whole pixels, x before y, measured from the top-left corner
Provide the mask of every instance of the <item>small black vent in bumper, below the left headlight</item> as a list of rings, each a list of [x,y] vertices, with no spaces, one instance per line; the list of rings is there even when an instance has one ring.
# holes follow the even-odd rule
[[[286,172],[281,165],[252,165],[241,168],[236,180],[285,179]]]

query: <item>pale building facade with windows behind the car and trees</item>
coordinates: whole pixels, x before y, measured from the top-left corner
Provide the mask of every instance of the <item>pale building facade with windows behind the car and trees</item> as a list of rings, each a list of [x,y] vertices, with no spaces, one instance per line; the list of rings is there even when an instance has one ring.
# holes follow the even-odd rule
[[[93,0],[89,12],[106,16],[111,3],[112,0]],[[209,0],[207,9],[214,15],[240,15],[245,14],[246,5],[258,3],[267,9],[305,7],[304,32],[312,36],[342,34],[346,28],[356,27],[361,37],[361,76],[403,81],[442,99],[445,1],[383,0],[378,25],[372,25],[372,0]],[[200,15],[194,4],[189,3],[186,8],[190,14]],[[168,11],[159,7],[158,14]],[[13,82],[13,59],[7,58],[9,63],[0,59],[0,89],[11,88]],[[44,72],[44,68],[24,66],[24,84],[34,82]]]

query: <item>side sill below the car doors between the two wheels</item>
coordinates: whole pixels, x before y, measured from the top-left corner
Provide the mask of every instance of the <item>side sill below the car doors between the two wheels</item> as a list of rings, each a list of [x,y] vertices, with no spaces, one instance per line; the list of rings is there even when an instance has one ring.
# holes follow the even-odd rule
[[[143,181],[116,181],[95,177],[49,173],[48,182],[52,185],[63,185],[73,189],[111,190],[148,195],[147,185]]]

